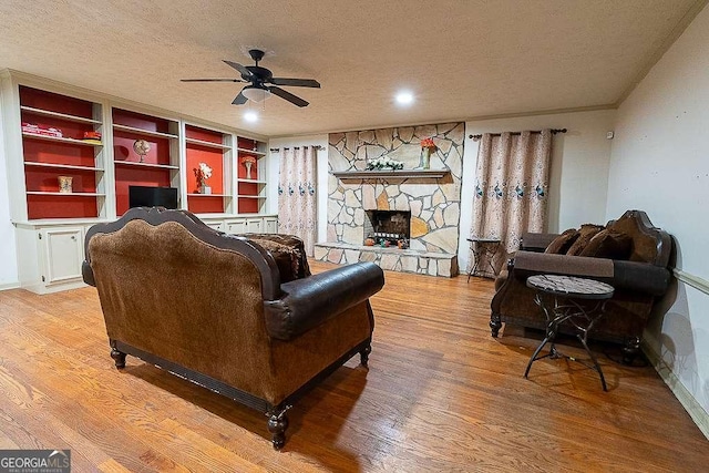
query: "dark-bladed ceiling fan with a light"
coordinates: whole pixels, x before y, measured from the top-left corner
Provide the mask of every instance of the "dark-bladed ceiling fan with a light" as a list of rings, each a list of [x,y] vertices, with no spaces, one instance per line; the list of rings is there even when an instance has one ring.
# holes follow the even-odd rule
[[[224,61],[226,64],[236,69],[239,74],[242,74],[242,79],[182,79],[182,82],[249,82],[248,85],[242,89],[242,92],[239,92],[236,99],[234,99],[232,102],[234,105],[243,105],[248,100],[261,102],[268,99],[270,94],[274,94],[287,100],[294,105],[307,106],[308,102],[280,89],[278,85],[320,89],[320,83],[314,79],[274,78],[274,74],[268,69],[258,65],[258,62],[264,59],[264,51],[253,49],[248,51],[248,54],[256,62],[256,65],[242,65],[237,62]]]

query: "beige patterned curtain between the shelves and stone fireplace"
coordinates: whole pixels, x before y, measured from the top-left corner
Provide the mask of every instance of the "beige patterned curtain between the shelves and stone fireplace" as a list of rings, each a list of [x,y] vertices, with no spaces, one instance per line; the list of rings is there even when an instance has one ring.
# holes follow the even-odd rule
[[[296,235],[314,256],[317,238],[317,147],[285,148],[278,177],[278,233]]]

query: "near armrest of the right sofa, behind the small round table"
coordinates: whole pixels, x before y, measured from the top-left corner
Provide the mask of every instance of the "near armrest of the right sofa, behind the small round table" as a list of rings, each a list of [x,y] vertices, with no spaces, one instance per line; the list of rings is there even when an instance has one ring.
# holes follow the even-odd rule
[[[538,274],[578,276],[608,282],[616,289],[653,296],[664,295],[670,279],[670,273],[666,268],[649,263],[523,250],[515,254],[514,273],[518,278]]]

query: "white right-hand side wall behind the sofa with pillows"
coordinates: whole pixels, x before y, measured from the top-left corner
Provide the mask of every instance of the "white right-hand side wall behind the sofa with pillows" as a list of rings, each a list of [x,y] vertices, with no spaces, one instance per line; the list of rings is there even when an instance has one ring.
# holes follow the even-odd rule
[[[679,276],[709,280],[709,8],[620,105],[606,216],[639,208],[676,239]],[[697,279],[698,278],[698,279]],[[678,284],[646,331],[660,373],[709,436],[709,295]],[[684,392],[689,395],[684,399]]]

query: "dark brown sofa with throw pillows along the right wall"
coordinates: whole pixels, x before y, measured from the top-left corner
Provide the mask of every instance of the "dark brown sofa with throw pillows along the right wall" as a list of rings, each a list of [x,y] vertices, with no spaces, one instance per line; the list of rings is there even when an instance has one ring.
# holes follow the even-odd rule
[[[546,326],[542,310],[534,304],[533,289],[526,287],[528,276],[557,274],[590,278],[610,284],[615,294],[589,338],[623,343],[624,362],[633,362],[653,305],[669,285],[667,266],[671,238],[666,232],[655,228],[641,210],[626,212],[619,219],[609,222],[605,229],[604,234],[612,233],[625,241],[627,254],[623,259],[544,253],[551,246],[559,249],[562,245],[556,243],[564,241],[564,237],[525,234],[522,248],[495,281],[490,319],[492,336],[497,337],[503,322],[537,329]],[[590,241],[586,244],[590,245]],[[585,255],[584,248],[574,249],[569,248],[576,255]],[[573,333],[568,327],[562,331]]]

